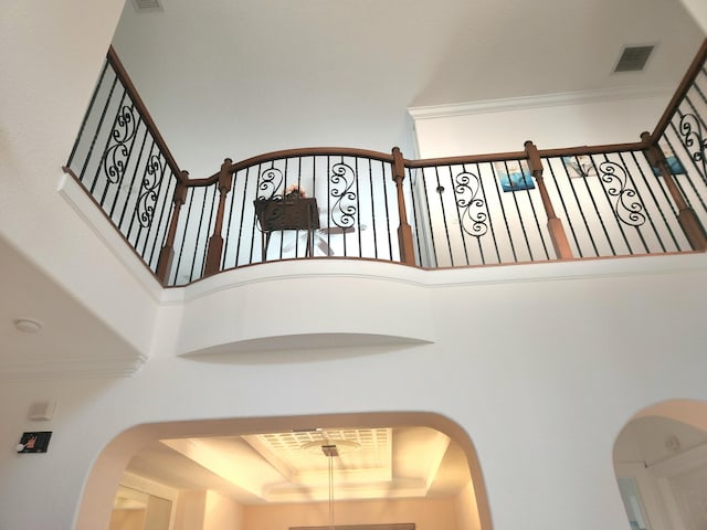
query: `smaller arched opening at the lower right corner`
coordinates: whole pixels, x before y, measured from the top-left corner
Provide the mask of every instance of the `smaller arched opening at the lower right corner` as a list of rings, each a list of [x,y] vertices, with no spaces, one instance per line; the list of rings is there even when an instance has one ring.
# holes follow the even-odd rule
[[[631,528],[707,528],[707,403],[640,411],[616,437],[613,459]]]

